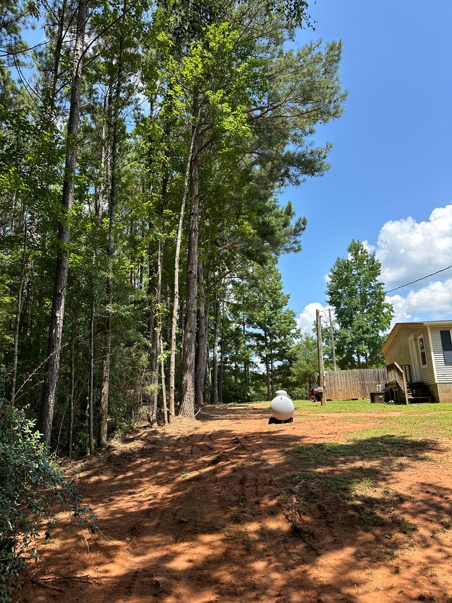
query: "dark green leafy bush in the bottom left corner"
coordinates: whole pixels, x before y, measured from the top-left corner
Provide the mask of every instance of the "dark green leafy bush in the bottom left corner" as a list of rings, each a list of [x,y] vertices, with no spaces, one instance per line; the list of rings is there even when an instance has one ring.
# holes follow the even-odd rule
[[[25,567],[26,556],[37,558],[37,550],[30,547],[42,520],[50,537],[55,500],[96,531],[98,517],[81,499],[50,458],[34,421],[0,399],[0,603],[11,601],[11,579]]]

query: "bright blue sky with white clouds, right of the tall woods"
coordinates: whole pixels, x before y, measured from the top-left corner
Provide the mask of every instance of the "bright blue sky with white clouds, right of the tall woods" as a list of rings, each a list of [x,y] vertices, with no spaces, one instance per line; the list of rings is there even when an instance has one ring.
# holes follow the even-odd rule
[[[452,2],[318,0],[310,11],[316,31],[297,43],[342,39],[350,96],[316,136],[334,144],[330,171],[281,195],[308,219],[303,251],[279,262],[302,327],[352,238],[375,247],[388,288],[452,264]],[[399,320],[452,316],[452,269],[392,301]]]

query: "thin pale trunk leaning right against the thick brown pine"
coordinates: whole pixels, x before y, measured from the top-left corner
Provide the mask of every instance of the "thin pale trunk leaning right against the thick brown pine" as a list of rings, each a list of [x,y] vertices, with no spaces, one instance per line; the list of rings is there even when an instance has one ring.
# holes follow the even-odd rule
[[[169,420],[172,421],[175,415],[175,365],[176,365],[176,332],[177,332],[177,309],[179,306],[179,263],[180,248],[182,242],[182,229],[184,224],[185,204],[187,201],[187,192],[189,186],[190,168],[192,164],[193,145],[195,144],[197,124],[192,126],[192,136],[190,139],[189,154],[187,157],[187,168],[185,171],[184,192],[182,195],[179,224],[177,229],[176,253],[174,260],[174,297],[172,305],[171,319],[171,350],[169,355]]]

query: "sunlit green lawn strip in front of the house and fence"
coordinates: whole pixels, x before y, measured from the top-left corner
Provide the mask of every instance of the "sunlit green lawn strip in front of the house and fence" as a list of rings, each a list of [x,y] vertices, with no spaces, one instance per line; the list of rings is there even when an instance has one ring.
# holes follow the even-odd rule
[[[416,404],[389,405],[370,404],[369,400],[331,400],[327,406],[319,402],[295,400],[295,417],[306,415],[328,415],[339,413],[343,417],[334,417],[333,422],[356,423],[356,431],[348,433],[350,440],[363,439],[381,435],[403,435],[404,437],[452,437],[452,404]],[[371,417],[357,416],[354,413],[365,412]],[[401,413],[398,416],[391,413]],[[360,423],[374,426],[359,429]],[[331,419],[330,419],[331,420]]]

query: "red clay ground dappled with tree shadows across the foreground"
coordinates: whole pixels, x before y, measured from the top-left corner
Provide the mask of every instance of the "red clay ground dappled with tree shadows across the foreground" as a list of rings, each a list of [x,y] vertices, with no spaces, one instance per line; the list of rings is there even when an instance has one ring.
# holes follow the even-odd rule
[[[368,428],[370,418],[268,425],[268,412],[253,406],[203,408],[200,416],[167,431],[142,429],[66,466],[101,532],[90,535],[60,513],[17,601],[452,601],[448,442],[429,444],[428,458],[369,462],[379,489],[370,488],[368,500],[388,496],[397,500],[387,503],[388,517],[403,513],[401,531],[388,534],[386,525],[361,522],[366,499],[357,501],[363,513],[356,505],[344,511],[347,501],[321,490],[316,474],[287,455],[304,446],[315,456],[325,442],[346,446],[347,431]],[[341,478],[356,467],[351,449],[318,475]]]

